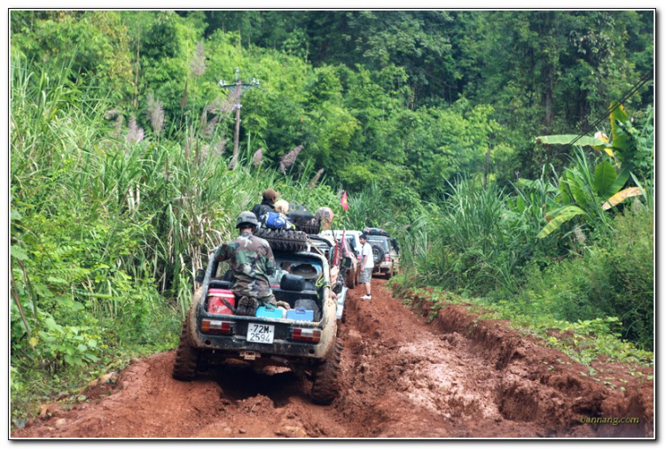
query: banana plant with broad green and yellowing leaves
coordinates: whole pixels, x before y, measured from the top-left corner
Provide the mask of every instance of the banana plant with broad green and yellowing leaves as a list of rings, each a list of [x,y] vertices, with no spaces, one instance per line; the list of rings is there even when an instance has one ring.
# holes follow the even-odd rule
[[[630,162],[636,152],[635,128],[622,105],[613,104],[610,112],[612,141],[598,132],[596,135],[543,135],[536,137],[540,144],[575,144],[575,166],[567,168],[559,179],[559,207],[546,213],[548,223],[538,233],[538,238],[549,236],[564,223],[581,217],[593,221],[596,226],[609,226],[606,211],[619,205],[629,197],[645,195],[636,177],[630,172]],[[608,159],[597,164],[593,170],[582,147],[591,146],[602,151]],[[638,187],[622,190],[629,178]]]

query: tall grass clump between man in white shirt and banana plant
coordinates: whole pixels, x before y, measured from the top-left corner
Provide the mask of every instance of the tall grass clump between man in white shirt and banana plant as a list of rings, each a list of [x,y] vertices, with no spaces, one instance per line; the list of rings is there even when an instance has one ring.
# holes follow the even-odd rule
[[[450,290],[488,295],[515,291],[527,250],[522,243],[536,228],[525,228],[503,190],[462,180],[432,213],[412,224],[406,237],[412,275]],[[528,211],[525,208],[525,211]],[[517,276],[516,276],[517,275]]]

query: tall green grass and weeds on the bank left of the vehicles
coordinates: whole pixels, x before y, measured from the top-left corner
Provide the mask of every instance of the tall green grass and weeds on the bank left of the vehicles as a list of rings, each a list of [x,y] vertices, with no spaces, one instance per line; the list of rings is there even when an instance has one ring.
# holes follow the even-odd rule
[[[317,171],[307,148],[286,175],[254,166],[248,147],[228,170],[228,157],[203,151],[220,133],[172,140],[118,128],[106,119],[114,105],[56,73],[12,59],[14,404],[65,372],[86,376],[122,354],[173,347],[193,274],[262,190],[312,211],[339,208],[329,186],[309,185]]]

